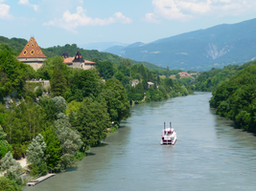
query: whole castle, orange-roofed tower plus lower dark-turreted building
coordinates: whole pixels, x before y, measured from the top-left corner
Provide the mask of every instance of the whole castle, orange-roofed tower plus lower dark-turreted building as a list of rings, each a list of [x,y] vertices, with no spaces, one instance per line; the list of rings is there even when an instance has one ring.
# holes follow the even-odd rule
[[[62,53],[62,57],[64,59],[63,63],[72,68],[89,70],[95,68],[96,65],[95,62],[83,60],[79,51],[74,57],[69,57],[68,53]],[[47,59],[47,57],[42,53],[35,38],[31,37],[23,51],[17,56],[17,59],[32,66],[36,71],[43,65],[43,61]]]

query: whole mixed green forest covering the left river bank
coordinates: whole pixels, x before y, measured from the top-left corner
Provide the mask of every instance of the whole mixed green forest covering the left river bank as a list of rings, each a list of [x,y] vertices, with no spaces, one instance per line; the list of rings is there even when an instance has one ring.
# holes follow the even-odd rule
[[[164,72],[129,59],[116,64],[96,57],[96,70],[81,70],[55,56],[34,71],[15,56],[1,45],[0,159],[1,172],[7,173],[0,185],[10,184],[13,190],[24,183],[15,159],[26,157],[31,176],[63,172],[130,117],[130,104],[187,96],[194,90],[190,80],[160,78]],[[51,87],[29,82],[39,78],[50,80]],[[138,81],[134,87],[132,80]]]

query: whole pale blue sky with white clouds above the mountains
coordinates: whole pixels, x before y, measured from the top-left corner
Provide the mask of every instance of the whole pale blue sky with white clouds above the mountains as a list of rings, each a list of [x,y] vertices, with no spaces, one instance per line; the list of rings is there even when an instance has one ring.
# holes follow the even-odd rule
[[[42,48],[150,43],[256,18],[255,0],[0,0],[0,35]]]

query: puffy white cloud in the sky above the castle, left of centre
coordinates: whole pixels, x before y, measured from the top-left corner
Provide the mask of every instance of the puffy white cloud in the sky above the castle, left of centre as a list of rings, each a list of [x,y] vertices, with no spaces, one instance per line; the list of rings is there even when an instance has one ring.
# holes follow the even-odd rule
[[[86,11],[79,6],[77,7],[76,13],[65,11],[61,19],[56,18],[45,22],[43,26],[55,26],[67,31],[76,32],[76,29],[80,26],[106,26],[113,23],[128,24],[132,22],[130,18],[124,16],[121,12],[115,12],[112,17],[105,19],[88,17],[85,12]]]

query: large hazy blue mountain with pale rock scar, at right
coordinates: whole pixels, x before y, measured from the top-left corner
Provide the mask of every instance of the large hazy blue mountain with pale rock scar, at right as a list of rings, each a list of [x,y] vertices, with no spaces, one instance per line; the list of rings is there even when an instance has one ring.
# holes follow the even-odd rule
[[[256,58],[256,19],[181,33],[149,44],[134,43],[113,53],[170,70],[208,71]],[[112,48],[105,50],[112,53]]]

